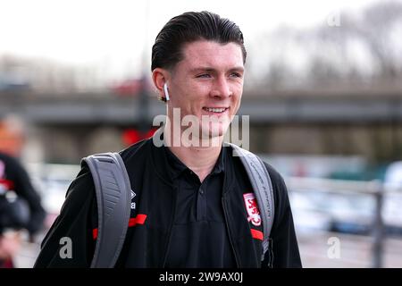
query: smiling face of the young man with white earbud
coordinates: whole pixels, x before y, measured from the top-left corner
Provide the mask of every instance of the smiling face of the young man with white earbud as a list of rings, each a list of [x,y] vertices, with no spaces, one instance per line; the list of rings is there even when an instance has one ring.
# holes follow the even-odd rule
[[[239,110],[243,92],[241,47],[199,40],[183,46],[182,54],[183,60],[176,64],[168,82],[168,115],[172,116],[173,108],[180,108],[180,119],[197,117],[203,138],[224,135]],[[182,126],[181,130],[187,128]]]

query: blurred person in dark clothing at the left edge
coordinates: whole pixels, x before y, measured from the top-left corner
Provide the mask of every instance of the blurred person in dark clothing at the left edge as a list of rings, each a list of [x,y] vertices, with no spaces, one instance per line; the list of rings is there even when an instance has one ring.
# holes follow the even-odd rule
[[[17,117],[0,118],[0,267],[6,268],[14,266],[21,230],[27,230],[33,241],[46,217],[29,174],[19,162],[24,140],[23,124]]]

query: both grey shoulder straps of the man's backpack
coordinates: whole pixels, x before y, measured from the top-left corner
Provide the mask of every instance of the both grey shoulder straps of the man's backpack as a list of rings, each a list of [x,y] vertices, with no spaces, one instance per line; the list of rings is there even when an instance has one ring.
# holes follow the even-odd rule
[[[274,202],[272,181],[263,161],[234,144],[225,143],[239,156],[255,189],[255,198],[263,221],[263,254],[269,246]],[[114,267],[119,258],[130,220],[130,179],[119,153],[103,153],[82,159],[87,164],[96,190],[98,230],[91,268]]]

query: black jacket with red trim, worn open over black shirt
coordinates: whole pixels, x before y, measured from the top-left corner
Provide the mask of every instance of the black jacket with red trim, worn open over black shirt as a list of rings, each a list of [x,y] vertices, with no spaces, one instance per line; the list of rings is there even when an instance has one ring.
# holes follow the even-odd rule
[[[171,240],[176,194],[165,164],[158,162],[163,147],[148,139],[121,151],[127,167],[132,200],[130,227],[116,266],[163,267]],[[156,159],[157,158],[157,159]],[[231,247],[238,267],[301,267],[297,239],[289,206],[287,189],[281,175],[266,164],[272,178],[275,217],[271,248],[261,262],[261,240],[255,240],[247,222],[243,202],[244,189],[236,185],[237,176],[247,176],[239,158],[227,163],[223,182],[222,206]],[[88,267],[95,248],[96,204],[92,177],[83,168],[67,192],[61,214],[42,243],[36,267]],[[71,238],[72,257],[60,257],[60,240]]]

